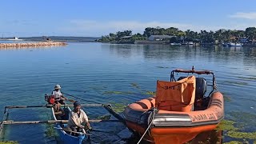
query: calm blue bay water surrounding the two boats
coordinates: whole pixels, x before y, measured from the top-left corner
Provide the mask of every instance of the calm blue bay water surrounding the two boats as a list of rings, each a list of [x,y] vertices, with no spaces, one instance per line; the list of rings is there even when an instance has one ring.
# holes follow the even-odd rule
[[[65,47],[0,49],[0,102],[4,106],[45,105],[44,94],[60,84],[62,91],[102,103],[128,104],[147,98],[157,80],[169,80],[170,71],[182,68],[213,70],[218,89],[226,97],[226,119],[244,124],[255,132],[256,48],[111,45],[69,43]],[[108,114],[100,108],[86,108],[90,118]],[[250,118],[242,118],[242,114]],[[240,117],[240,118],[239,118]],[[15,121],[46,120],[50,110],[10,110]],[[130,135],[122,124],[95,124],[91,142],[126,142]],[[46,125],[6,126],[5,139],[20,143],[55,143],[46,137]],[[121,133],[120,133],[121,132]],[[232,138],[225,137],[223,142]],[[128,139],[129,141],[129,139]]]

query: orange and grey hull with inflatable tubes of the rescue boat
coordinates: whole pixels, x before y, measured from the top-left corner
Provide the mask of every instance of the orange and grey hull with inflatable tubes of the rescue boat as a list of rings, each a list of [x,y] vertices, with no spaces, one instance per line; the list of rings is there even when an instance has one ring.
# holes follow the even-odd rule
[[[124,118],[127,127],[138,134],[144,134],[150,126],[145,138],[155,143],[188,142],[201,132],[214,130],[224,118],[224,101],[219,92],[211,95],[209,106],[205,110],[152,110],[154,106],[155,98],[134,102],[126,107]]]

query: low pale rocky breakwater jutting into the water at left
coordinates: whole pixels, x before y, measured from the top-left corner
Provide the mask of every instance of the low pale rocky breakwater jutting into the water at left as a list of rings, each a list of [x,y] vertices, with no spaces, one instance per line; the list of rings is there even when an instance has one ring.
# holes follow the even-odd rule
[[[40,47],[40,46],[66,46],[66,42],[24,42],[24,43],[0,43],[0,48],[13,47]]]

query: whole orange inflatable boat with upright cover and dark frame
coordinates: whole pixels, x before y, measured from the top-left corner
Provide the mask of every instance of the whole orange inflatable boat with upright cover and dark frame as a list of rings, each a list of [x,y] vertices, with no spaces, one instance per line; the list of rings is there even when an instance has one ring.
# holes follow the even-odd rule
[[[180,77],[174,73],[194,75]],[[207,92],[207,86],[211,90]],[[203,131],[214,130],[224,118],[224,101],[211,71],[173,70],[170,82],[157,82],[156,96],[134,102],[124,110],[127,127],[145,140],[158,143],[185,143]],[[144,136],[145,134],[145,136]]]

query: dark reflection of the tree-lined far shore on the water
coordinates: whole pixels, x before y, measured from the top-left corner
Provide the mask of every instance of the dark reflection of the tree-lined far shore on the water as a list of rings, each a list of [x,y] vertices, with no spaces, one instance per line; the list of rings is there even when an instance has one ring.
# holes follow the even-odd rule
[[[195,62],[244,62],[256,66],[256,48],[222,46],[169,46],[169,45],[110,45],[110,54],[122,58],[141,55],[146,59],[177,60],[192,59]]]

